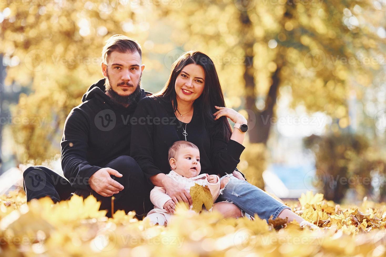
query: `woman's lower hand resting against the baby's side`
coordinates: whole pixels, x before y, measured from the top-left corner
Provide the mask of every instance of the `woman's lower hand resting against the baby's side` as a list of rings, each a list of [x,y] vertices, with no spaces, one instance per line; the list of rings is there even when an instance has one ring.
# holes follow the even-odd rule
[[[165,176],[162,183],[171,199],[175,202],[185,202],[189,206],[192,205],[193,201],[190,197],[190,193],[185,189],[183,182],[177,182],[169,176]]]

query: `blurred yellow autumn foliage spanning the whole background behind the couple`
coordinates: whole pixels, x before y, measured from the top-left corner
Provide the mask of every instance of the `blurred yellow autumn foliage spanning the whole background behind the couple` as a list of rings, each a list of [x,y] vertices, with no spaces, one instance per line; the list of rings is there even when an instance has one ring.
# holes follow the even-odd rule
[[[361,100],[382,67],[384,46],[376,26],[384,12],[377,3],[8,1],[0,7],[5,84],[32,89],[21,95],[13,113],[44,118],[14,126],[17,157],[40,163],[58,153],[66,115],[101,77],[102,46],[116,33],[144,47],[145,71],[157,78],[152,80],[157,85],[144,85],[150,91],[162,87],[183,51],[207,53],[227,106],[249,115],[251,143],[266,144],[281,93],[291,95],[291,107],[321,111],[337,129],[348,128],[348,99]],[[376,59],[367,63],[363,57]]]

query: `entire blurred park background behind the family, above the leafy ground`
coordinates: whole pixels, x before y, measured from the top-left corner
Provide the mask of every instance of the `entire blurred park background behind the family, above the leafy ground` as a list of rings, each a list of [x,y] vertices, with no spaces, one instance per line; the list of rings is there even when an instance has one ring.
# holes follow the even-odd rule
[[[142,45],[147,91],[187,50],[213,59],[249,119],[252,184],[385,201],[385,14],[384,0],[0,0],[0,193],[25,165],[61,173],[64,121],[119,33]]]

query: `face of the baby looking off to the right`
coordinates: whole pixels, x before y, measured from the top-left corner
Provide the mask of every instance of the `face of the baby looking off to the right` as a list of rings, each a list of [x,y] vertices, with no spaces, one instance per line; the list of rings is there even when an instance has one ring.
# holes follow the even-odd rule
[[[195,177],[200,174],[200,151],[192,147],[184,147],[179,149],[174,158],[175,168],[172,169],[179,175],[184,177]]]

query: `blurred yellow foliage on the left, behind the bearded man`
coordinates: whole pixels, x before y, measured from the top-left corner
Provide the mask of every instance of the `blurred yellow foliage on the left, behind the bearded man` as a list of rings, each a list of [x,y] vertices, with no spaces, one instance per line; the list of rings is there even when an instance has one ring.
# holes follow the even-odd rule
[[[145,42],[151,17],[144,20],[146,7],[135,7],[110,9],[98,1],[14,1],[0,7],[7,14],[0,23],[0,53],[9,64],[5,84],[32,84],[33,91],[20,96],[13,114],[42,120],[13,126],[20,162],[39,164],[58,153],[68,113],[102,77],[100,56],[108,37],[122,33]]]

